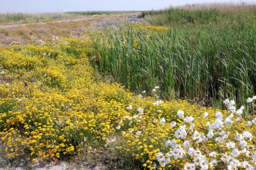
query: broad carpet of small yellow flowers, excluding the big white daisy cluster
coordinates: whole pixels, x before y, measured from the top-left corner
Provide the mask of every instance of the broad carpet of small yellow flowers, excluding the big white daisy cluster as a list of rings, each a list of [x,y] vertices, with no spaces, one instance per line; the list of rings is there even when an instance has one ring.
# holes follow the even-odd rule
[[[148,169],[182,167],[187,159],[172,159],[166,166],[156,160],[163,148],[168,150],[166,140],[175,138],[185,124],[177,112],[193,116],[195,127],[205,133],[205,124],[215,121],[216,112],[229,114],[182,100],[156,102],[119,84],[104,83],[90,63],[92,44],[90,39],[71,38],[0,50],[0,141],[7,158],[56,161],[80,152],[86,137],[110,146],[117,143],[120,151]],[[232,134],[241,128],[248,129],[234,125]],[[210,140],[193,145],[205,153],[218,149]]]

